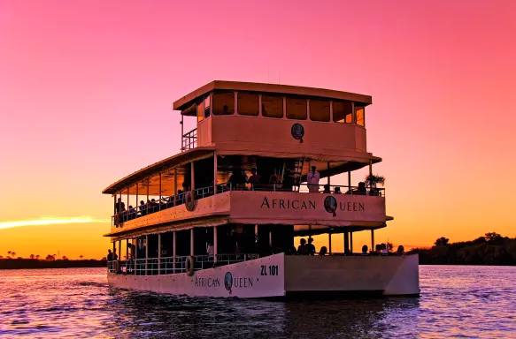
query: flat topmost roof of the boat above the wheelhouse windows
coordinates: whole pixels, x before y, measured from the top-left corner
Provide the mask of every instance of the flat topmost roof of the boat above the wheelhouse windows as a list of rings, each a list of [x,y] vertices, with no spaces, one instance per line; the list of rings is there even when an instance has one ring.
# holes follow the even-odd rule
[[[214,90],[305,95],[312,97],[344,100],[349,102],[359,102],[362,103],[364,106],[373,103],[373,99],[370,95],[335,91],[333,89],[265,84],[259,82],[214,80],[209,84],[206,84],[203,87],[199,87],[195,91],[186,94],[181,99],[178,99],[176,102],[173,102],[173,109],[189,109],[192,103],[195,103],[196,98],[203,96],[204,94],[207,94]]]

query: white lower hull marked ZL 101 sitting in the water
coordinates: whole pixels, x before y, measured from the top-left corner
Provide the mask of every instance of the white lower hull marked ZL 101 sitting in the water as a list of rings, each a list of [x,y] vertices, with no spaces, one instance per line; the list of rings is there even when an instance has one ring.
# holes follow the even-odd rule
[[[418,255],[285,256],[174,275],[108,274],[111,287],[191,297],[271,298],[302,292],[419,295]]]

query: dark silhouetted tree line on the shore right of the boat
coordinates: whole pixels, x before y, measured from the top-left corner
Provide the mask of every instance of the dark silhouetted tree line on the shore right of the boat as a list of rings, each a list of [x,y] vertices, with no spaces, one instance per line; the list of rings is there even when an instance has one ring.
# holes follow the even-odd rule
[[[516,265],[516,237],[486,233],[471,241],[450,243],[439,237],[429,248],[414,248],[409,254],[420,254],[420,265]]]

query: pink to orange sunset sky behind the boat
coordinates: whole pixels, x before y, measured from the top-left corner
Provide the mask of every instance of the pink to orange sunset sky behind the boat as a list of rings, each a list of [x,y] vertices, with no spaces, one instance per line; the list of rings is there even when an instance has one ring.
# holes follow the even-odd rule
[[[512,0],[0,1],[0,255],[103,257],[101,191],[178,153],[213,79],[372,95],[377,242],[515,237],[515,37]]]

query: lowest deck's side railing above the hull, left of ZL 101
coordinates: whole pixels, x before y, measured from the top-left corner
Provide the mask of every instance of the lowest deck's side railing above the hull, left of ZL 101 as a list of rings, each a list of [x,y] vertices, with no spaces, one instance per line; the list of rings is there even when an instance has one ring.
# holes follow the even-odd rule
[[[148,258],[136,260],[108,261],[108,271],[122,275],[172,275],[173,273],[186,272],[186,260],[189,256],[175,256],[163,258]],[[195,255],[194,270],[200,271],[206,268],[225,266],[258,259],[257,253],[242,254],[217,254],[215,262],[213,255]],[[175,267],[174,267],[175,259]]]

